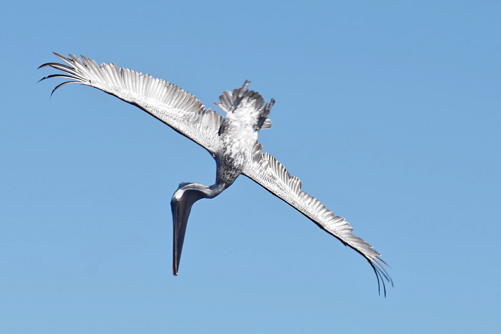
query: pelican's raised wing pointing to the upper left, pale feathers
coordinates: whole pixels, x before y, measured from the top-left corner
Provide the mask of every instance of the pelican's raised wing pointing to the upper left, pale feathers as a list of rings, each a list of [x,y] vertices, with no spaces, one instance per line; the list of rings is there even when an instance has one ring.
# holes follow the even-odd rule
[[[64,74],[50,75],[42,80],[65,78],[73,81],[58,85],[54,91],[67,84],[95,87],[141,108],[211,154],[215,153],[219,146],[218,132],[223,117],[210,109],[205,110],[202,102],[190,93],[162,79],[118,68],[115,64],[101,63],[99,66],[84,56],[82,61],[73,55],[70,55],[71,59],[57,53],[55,55],[70,66],[44,64],[41,67],[50,66]]]

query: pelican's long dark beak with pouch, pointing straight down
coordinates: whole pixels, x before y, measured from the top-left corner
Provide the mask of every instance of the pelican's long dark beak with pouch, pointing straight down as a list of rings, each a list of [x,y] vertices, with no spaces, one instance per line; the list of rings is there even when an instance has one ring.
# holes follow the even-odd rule
[[[197,200],[205,197],[202,192],[199,192],[197,190],[186,190],[182,193],[181,197],[177,197],[176,193],[170,201],[174,228],[172,253],[172,273],[174,274],[174,276],[177,276],[177,270],[179,268],[179,260],[181,259],[184,234],[186,233],[186,224],[188,223],[188,216],[191,211],[191,206]]]

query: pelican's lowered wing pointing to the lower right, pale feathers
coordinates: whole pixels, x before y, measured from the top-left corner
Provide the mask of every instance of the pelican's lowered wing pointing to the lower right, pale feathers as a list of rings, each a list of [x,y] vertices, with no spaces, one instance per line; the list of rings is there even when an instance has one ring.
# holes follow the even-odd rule
[[[299,212],[310,218],[320,228],[338,238],[345,245],[350,246],[362,254],[370,263],[376,276],[383,283],[386,295],[385,280],[393,282],[386,272],[386,264],[371,245],[356,237],[351,231],[353,228],[348,222],[327,210],[320,201],[301,190],[302,182],[297,177],[289,175],[287,169],[273,156],[262,153],[263,146],[256,143],[253,149],[253,160],[244,169],[242,174],[259,183],[266,190],[278,198],[286,201]]]

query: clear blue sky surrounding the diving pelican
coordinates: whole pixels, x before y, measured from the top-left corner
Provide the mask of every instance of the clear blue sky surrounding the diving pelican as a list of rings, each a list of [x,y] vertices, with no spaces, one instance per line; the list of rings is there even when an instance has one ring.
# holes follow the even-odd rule
[[[498,333],[499,2],[2,2],[0,331]],[[374,245],[355,251],[241,176],[170,198],[201,147],[59,79],[51,52],[277,103],[265,151]]]

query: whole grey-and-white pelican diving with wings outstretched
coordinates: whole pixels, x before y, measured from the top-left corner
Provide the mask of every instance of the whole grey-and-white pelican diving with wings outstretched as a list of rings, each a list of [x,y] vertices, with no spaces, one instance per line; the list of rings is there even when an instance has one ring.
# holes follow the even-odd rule
[[[82,84],[100,89],[141,108],[202,146],[215,159],[216,182],[213,185],[181,183],[172,196],[172,273],[175,276],[193,203],[202,198],[216,197],[229,187],[238,175],[243,174],[364,256],[376,274],[378,290],[381,278],[386,295],[385,280],[392,285],[393,282],[383,267],[386,262],[380,258],[381,254],[356,237],[344,218],[334,216],[320,201],[302,191],[301,180],[291,176],[277,159],[262,152],[263,146],[258,142],[258,133],[261,129],[272,126],[268,116],[275,103],[274,99],[265,104],[259,93],[247,89],[250,82],[245,81],[240,89],[235,88],[233,92],[224,91],[219,96],[220,102],[214,102],[226,113],[226,117],[223,117],[213,110],[205,109],[200,100],[167,81],[123,67],[118,68],[115,64],[101,63],[99,66],[84,56],[80,59],[74,55],[67,58],[54,54],[69,66],[59,63],[40,66],[39,68],[50,66],[64,73],[47,76],[41,81],[48,78],[71,81],[56,86],[52,93],[68,84]]]

